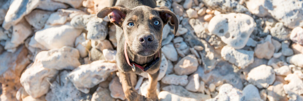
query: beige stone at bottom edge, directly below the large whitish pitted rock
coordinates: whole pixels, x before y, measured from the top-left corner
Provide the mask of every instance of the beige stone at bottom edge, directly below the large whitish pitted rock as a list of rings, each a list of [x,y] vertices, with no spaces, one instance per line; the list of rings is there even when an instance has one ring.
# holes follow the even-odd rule
[[[116,101],[110,95],[108,88],[98,87],[95,93],[92,95],[92,101]]]

